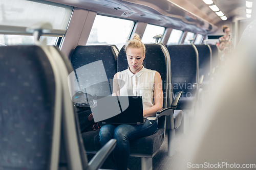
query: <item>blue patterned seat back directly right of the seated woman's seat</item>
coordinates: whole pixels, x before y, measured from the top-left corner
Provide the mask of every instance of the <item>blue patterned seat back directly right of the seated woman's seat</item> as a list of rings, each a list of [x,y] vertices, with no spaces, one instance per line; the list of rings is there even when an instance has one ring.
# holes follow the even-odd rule
[[[168,45],[172,67],[173,91],[182,91],[177,109],[191,110],[196,102],[197,54],[192,45]]]

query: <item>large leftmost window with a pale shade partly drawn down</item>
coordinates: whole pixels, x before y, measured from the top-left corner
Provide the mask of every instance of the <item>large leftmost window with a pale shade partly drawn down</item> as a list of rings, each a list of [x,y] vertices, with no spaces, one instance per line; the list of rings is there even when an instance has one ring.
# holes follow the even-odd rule
[[[55,45],[58,37],[66,34],[73,7],[41,0],[0,1],[0,43],[5,45],[31,45],[34,37],[26,28],[48,21],[53,30],[46,38],[48,45]]]

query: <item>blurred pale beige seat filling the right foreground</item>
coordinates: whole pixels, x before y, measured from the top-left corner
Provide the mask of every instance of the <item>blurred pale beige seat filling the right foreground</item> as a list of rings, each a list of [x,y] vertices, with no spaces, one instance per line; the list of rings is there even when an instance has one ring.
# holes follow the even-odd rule
[[[221,72],[212,100],[201,110],[189,139],[187,162],[223,163],[224,169],[256,168],[255,38],[256,21],[253,21],[242,34],[236,55]]]

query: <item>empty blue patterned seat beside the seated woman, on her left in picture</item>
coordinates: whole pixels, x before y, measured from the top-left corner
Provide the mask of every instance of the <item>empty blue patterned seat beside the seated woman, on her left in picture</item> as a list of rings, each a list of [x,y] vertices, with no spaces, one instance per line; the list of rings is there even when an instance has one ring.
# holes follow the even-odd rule
[[[101,77],[101,75],[106,75],[108,80],[103,82],[92,84],[90,87],[96,88],[97,90],[90,90],[90,87],[81,87],[86,88],[86,92],[94,95],[111,95],[112,94],[112,82],[111,80],[114,78],[114,75],[117,72],[116,59],[118,55],[118,48],[115,45],[86,45],[86,46],[77,46],[74,52],[71,55],[71,64],[76,74],[84,75],[83,70],[79,71],[84,65],[102,61],[103,69],[95,70],[94,77]],[[99,67],[99,65],[95,65]],[[90,70],[93,71],[93,70]],[[89,75],[90,77],[90,75]],[[78,78],[79,79],[79,78]],[[80,80],[81,79],[81,80]],[[84,75],[84,77],[80,77],[77,82],[83,82],[89,80],[88,75]],[[92,80],[90,80],[92,82]],[[108,81],[108,82],[107,82]],[[102,84],[104,83],[104,85]],[[105,86],[107,84],[107,86]],[[103,87],[105,88],[102,88]],[[86,148],[88,153],[96,153],[101,148],[99,143],[99,130],[84,132],[81,134],[83,138],[84,147]]]

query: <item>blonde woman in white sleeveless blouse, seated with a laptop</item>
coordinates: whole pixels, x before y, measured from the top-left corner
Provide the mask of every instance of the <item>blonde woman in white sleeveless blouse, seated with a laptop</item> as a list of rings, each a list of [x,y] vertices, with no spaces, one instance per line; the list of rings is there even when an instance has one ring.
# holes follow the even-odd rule
[[[130,157],[130,141],[152,135],[157,130],[157,110],[163,107],[162,79],[159,72],[146,69],[142,64],[145,59],[145,45],[139,35],[125,46],[129,68],[114,76],[113,95],[142,96],[144,125],[104,125],[99,132],[103,146],[110,139],[117,139],[116,148],[111,155],[117,169],[127,169]],[[125,83],[125,86],[122,85]],[[121,88],[119,87],[126,87]]]

